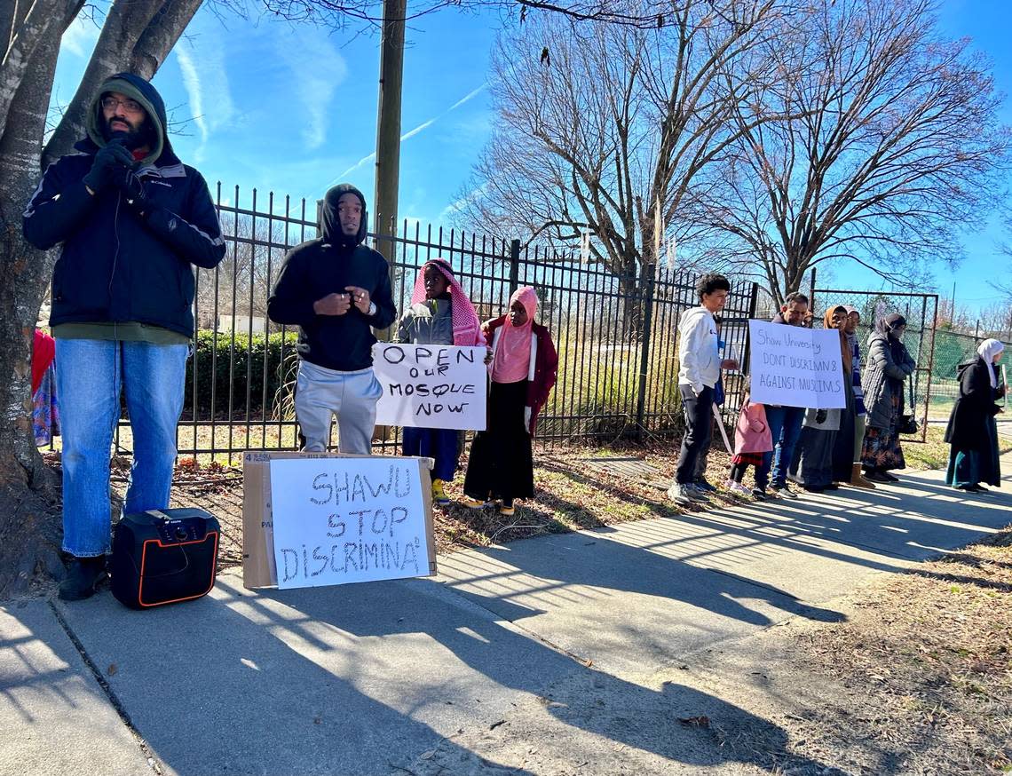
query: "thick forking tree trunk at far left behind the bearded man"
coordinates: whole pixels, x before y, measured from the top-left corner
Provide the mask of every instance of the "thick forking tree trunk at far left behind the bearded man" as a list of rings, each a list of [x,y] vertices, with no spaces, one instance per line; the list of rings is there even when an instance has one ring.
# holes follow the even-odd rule
[[[101,82],[121,70],[151,78],[201,0],[115,0],[84,79],[41,154],[63,32],[83,0],[46,0],[55,18],[28,32],[31,59],[0,66],[0,597],[25,590],[39,576],[59,577],[59,484],[35,447],[31,428],[31,345],[53,274],[56,252],[38,251],[21,234],[21,213],[38,183],[41,159],[68,153]],[[21,34],[16,11],[0,9],[4,32]],[[30,19],[29,19],[30,21]],[[26,33],[27,34],[27,33]],[[23,49],[27,50],[27,38]],[[15,52],[17,54],[17,52]],[[18,55],[19,56],[19,55]],[[7,76],[10,75],[8,79]],[[15,77],[16,76],[16,77]]]

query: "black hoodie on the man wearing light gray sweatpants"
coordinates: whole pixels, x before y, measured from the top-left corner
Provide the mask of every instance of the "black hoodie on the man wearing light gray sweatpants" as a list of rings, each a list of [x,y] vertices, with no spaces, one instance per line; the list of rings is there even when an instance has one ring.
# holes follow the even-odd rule
[[[358,234],[352,237],[341,231],[337,215],[337,200],[346,193],[362,203]],[[331,188],[320,209],[323,237],[288,251],[267,299],[267,316],[276,324],[299,326],[299,355],[317,366],[338,371],[368,368],[376,341],[372,328],[386,329],[397,317],[387,260],[362,245],[367,221],[361,191],[346,183]],[[363,315],[354,305],[343,316],[313,312],[313,303],[329,293],[347,293],[348,285],[369,292],[375,315]]]

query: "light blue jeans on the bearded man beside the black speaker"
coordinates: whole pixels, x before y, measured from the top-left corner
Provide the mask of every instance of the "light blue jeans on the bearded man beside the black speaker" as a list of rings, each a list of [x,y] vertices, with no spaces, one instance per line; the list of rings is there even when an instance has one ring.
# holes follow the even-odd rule
[[[169,506],[188,345],[57,339],[63,434],[64,551],[109,549],[109,451],[126,397],[134,462],[125,513]]]

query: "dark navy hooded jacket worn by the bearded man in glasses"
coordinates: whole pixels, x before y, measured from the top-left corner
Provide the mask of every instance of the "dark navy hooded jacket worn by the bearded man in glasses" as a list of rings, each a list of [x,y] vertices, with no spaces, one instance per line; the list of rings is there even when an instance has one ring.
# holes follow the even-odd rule
[[[141,102],[152,122],[153,149],[136,170],[150,205],[144,217],[115,186],[92,195],[84,185],[105,144],[98,103],[109,91]],[[191,265],[217,265],[225,241],[207,184],[172,151],[155,87],[131,73],[107,79],[92,104],[88,138],[74,148],[78,153],[46,170],[24,212],[29,243],[43,250],[62,244],[50,325],[138,322],[191,337]]]

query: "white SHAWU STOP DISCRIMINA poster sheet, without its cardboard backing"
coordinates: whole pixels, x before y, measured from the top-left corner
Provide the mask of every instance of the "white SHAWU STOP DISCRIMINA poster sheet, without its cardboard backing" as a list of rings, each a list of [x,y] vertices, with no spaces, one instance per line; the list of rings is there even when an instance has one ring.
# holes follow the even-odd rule
[[[420,471],[390,456],[272,459],[277,587],[428,576]]]

